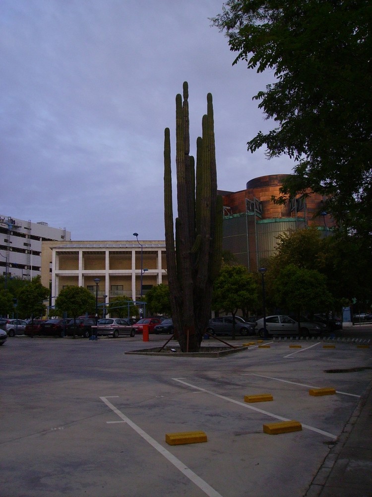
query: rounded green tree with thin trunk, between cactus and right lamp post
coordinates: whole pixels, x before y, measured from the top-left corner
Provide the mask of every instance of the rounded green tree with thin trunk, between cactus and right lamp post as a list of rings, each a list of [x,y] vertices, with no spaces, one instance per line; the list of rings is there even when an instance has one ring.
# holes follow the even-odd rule
[[[213,287],[212,306],[215,311],[233,315],[233,339],[235,339],[235,315],[238,309],[246,314],[248,309],[256,309],[258,304],[258,284],[246,266],[224,264]]]

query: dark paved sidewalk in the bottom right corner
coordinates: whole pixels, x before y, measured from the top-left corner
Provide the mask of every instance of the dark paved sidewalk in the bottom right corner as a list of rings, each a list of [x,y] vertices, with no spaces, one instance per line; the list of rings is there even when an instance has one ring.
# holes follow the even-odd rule
[[[305,497],[372,497],[372,382]]]

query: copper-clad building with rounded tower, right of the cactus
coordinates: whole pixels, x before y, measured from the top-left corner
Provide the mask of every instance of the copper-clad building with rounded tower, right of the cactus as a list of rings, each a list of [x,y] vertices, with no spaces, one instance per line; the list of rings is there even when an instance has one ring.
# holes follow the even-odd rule
[[[272,196],[287,174],[271,174],[251,179],[244,190],[220,191],[224,202],[223,249],[232,252],[249,271],[257,271],[263,261],[274,255],[278,236],[316,226],[326,236],[332,218],[322,211],[325,197],[311,194],[277,205]],[[321,214],[319,215],[319,212]]]

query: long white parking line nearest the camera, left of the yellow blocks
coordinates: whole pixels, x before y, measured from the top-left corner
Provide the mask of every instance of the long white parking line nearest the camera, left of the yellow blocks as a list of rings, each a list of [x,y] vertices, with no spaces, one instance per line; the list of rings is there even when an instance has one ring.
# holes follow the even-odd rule
[[[134,431],[138,433],[146,442],[154,447],[160,454],[162,454],[170,463],[172,463],[178,470],[181,471],[192,483],[194,483],[200,490],[202,490],[209,497],[222,497],[216,490],[214,490],[210,485],[208,485],[204,480],[197,476],[193,471],[186,467],[186,465],[177,459],[173,454],[171,454],[166,448],[164,448],[160,443],[154,440],[150,435],[143,431],[137,424],[133,423],[125,414],[123,414],[119,409],[117,409],[107,397],[100,397],[101,401],[106,404],[110,409],[114,411],[123,421],[125,421]]]

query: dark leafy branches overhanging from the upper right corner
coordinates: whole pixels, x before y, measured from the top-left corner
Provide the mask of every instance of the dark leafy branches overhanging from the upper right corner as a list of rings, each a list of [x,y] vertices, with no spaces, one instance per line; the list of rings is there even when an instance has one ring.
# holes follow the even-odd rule
[[[212,22],[238,53],[234,64],[275,76],[254,98],[277,127],[258,132],[248,151],[266,146],[269,158],[295,160],[276,200],[327,195],[323,210],[371,247],[371,2],[228,0]]]

